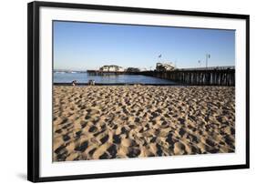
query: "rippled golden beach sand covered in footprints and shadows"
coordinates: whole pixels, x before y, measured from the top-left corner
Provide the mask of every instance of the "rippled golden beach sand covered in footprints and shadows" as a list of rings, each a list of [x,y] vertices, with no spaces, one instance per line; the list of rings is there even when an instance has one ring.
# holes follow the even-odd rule
[[[235,151],[234,87],[54,86],[53,160]]]

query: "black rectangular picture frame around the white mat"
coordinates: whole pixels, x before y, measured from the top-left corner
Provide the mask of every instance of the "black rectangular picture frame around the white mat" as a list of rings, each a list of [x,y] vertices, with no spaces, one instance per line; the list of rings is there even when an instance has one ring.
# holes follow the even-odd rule
[[[118,173],[102,173],[76,176],[46,177],[39,176],[39,8],[60,7],[75,9],[110,10],[119,12],[135,12],[165,15],[192,15],[218,18],[235,18],[246,21],[246,164],[218,167],[201,167],[186,169],[141,170]],[[223,169],[249,169],[250,167],[250,15],[219,14],[194,11],[178,11],[138,7],[109,5],[81,5],[53,2],[32,2],[27,5],[27,179],[33,182],[56,181],[69,179],[97,179],[111,177],[128,177],[140,175],[156,175],[180,172],[197,172]]]

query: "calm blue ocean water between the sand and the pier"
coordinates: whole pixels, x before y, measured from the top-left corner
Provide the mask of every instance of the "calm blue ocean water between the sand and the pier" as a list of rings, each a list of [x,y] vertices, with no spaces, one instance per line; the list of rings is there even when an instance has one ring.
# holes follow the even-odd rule
[[[54,83],[71,83],[77,80],[77,83],[87,83],[88,80],[94,80],[97,83],[114,84],[165,84],[172,85],[175,82],[161,79],[157,77],[147,77],[142,75],[106,75],[106,76],[91,76],[85,73],[54,73]]]

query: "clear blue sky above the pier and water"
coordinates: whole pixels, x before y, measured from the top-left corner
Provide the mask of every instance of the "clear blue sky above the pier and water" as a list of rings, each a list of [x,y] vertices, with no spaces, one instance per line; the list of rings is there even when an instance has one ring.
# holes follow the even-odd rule
[[[205,66],[207,53],[209,66],[235,65],[235,31],[54,22],[55,69],[86,70],[104,65],[149,69],[157,62],[198,67]]]

